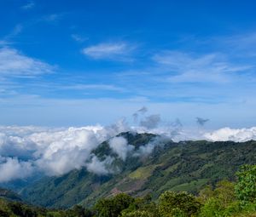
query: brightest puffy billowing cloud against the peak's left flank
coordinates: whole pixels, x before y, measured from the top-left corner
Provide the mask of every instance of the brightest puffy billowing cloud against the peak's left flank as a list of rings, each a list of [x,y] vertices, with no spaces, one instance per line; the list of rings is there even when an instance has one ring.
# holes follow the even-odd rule
[[[108,138],[102,127],[68,128],[57,132],[32,134],[29,138],[40,148],[34,153],[38,168],[47,174],[65,174],[73,168],[81,168],[90,151]]]

